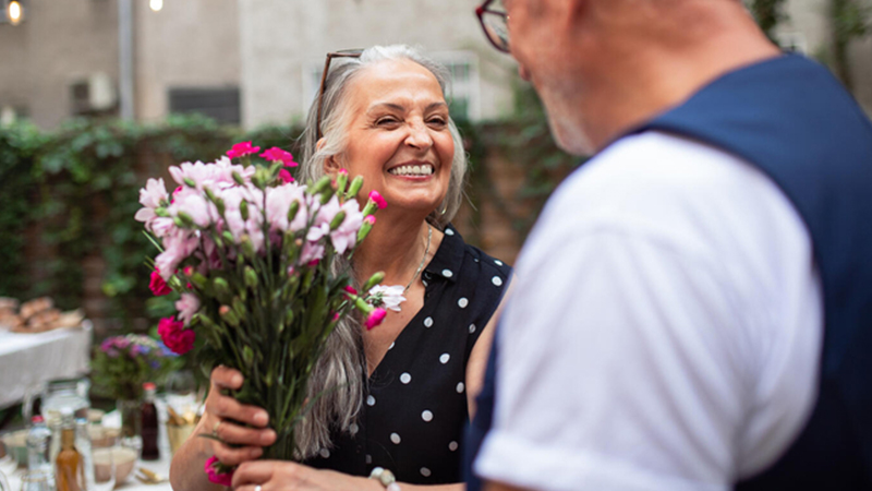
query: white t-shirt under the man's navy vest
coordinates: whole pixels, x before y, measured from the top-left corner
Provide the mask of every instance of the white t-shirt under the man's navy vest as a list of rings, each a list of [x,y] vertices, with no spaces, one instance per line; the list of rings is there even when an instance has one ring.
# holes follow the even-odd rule
[[[808,231],[748,163],[649,132],[556,191],[497,342],[476,471],[542,490],[728,490],[773,464],[816,398]]]

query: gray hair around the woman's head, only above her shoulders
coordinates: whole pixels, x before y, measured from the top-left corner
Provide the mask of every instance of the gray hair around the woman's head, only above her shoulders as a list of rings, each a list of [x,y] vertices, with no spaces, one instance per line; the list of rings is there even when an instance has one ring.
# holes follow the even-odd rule
[[[300,168],[300,178],[305,181],[317,181],[324,176],[324,161],[332,156],[340,155],[348,144],[348,123],[351,115],[351,105],[348,104],[348,86],[355,75],[367,67],[386,60],[409,60],[427,69],[443,89],[443,96],[448,99],[450,88],[450,73],[440,63],[425,57],[415,48],[405,45],[373,46],[365,49],[360,58],[336,58],[327,74],[326,91],[322,107],[320,132],[325,144],[318,148],[318,99],[312,104],[303,133],[303,163]],[[463,195],[463,185],[467,176],[467,152],[463,140],[455,121],[449,118],[448,128],[455,142],[455,156],[451,161],[451,178],[448,182],[448,192],[438,209],[434,209],[427,220],[445,228],[460,208]]]

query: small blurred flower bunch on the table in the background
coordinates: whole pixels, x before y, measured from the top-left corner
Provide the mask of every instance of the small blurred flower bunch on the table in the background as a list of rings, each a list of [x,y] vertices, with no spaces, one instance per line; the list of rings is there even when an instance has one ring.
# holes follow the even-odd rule
[[[92,361],[94,390],[120,400],[138,400],[145,382],[160,382],[171,370],[175,355],[148,336],[108,337]]]

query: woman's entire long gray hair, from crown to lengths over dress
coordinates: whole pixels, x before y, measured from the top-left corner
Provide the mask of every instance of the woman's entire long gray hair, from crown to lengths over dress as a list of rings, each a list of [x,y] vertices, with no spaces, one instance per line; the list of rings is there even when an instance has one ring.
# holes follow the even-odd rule
[[[349,83],[363,69],[384,60],[411,60],[429,70],[439,82],[443,95],[448,99],[450,74],[441,64],[421,55],[414,48],[402,45],[374,46],[363,51],[360,58],[337,58],[327,74],[322,109],[322,134],[326,144],[317,147],[317,98],[308,111],[303,133],[303,161],[299,178],[302,181],[317,181],[324,175],[324,161],[341,154],[348,144],[348,123],[353,116],[347,94]],[[467,175],[467,153],[463,141],[453,120],[448,121],[455,155],[451,161],[451,178],[448,192],[438,209],[434,209],[427,221],[445,229],[455,217],[463,195]],[[335,260],[330,265],[334,274],[353,270],[344,259]],[[354,275],[352,275],[353,277]],[[355,279],[356,283],[356,279]],[[355,285],[360,289],[360,285]],[[363,355],[361,320],[348,315],[337,324],[327,339],[324,355],[318,360],[308,382],[308,399],[314,400],[312,410],[296,427],[298,458],[316,455],[322,448],[331,446],[330,431],[338,429],[351,431],[366,391],[367,367]]]

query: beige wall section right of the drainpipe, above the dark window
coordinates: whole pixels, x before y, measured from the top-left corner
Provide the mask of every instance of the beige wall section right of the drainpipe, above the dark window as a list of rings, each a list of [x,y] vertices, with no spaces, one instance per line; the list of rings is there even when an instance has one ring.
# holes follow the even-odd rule
[[[171,87],[240,85],[237,0],[135,1],[136,118],[160,120]]]

